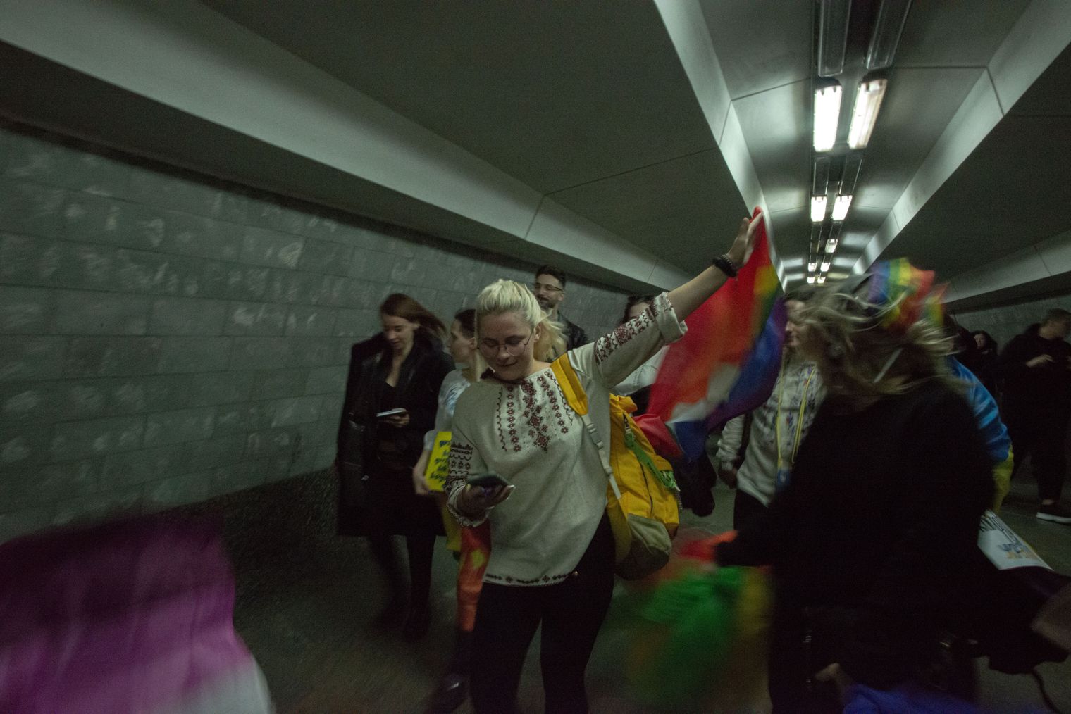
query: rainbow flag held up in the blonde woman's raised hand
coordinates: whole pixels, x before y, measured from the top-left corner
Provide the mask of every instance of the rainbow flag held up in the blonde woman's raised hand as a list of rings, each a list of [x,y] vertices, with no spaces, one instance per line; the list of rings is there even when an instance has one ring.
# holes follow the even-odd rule
[[[711,420],[753,409],[776,379],[784,310],[772,309],[778,275],[770,262],[765,218],[757,232],[755,249],[737,278],[684,320],[688,333],[669,346],[651,388],[648,411],[674,428],[689,458],[703,453],[707,431],[716,425]],[[765,394],[754,401],[763,389]]]

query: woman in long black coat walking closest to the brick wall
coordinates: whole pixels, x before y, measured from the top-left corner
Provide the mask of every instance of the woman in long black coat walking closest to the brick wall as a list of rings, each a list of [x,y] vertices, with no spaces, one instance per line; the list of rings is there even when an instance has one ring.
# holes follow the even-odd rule
[[[442,323],[416,300],[392,294],[379,313],[382,333],[350,353],[338,428],[338,532],[367,536],[372,545],[391,591],[379,617],[382,625],[397,621],[404,608],[391,536],[406,537],[410,590],[404,635],[416,640],[427,632],[432,555],[442,519],[435,501],[417,496],[412,467],[424,434],[435,424],[442,378],[453,365],[442,350]]]

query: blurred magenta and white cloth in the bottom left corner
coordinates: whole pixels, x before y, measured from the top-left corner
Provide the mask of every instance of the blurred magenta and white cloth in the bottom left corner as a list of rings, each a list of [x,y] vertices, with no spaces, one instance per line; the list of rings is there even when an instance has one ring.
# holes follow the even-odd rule
[[[145,517],[0,545],[0,711],[270,712],[216,528]]]

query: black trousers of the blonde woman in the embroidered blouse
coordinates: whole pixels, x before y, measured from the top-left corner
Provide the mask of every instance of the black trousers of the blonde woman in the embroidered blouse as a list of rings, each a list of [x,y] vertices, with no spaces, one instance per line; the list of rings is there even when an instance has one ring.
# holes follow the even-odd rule
[[[564,581],[543,587],[485,583],[472,633],[469,685],[478,714],[517,711],[521,670],[541,624],[546,712],[587,712],[584,672],[613,591],[614,535],[606,516]]]

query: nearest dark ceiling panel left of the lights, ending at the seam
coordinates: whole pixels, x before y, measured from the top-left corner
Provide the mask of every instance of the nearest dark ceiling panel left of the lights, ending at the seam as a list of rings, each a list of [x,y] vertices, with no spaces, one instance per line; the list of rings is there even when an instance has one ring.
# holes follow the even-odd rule
[[[544,194],[714,147],[650,3],[203,2]]]

